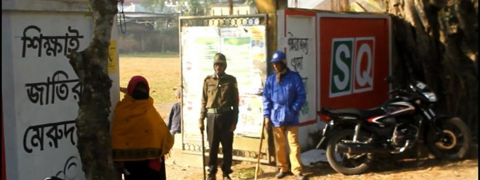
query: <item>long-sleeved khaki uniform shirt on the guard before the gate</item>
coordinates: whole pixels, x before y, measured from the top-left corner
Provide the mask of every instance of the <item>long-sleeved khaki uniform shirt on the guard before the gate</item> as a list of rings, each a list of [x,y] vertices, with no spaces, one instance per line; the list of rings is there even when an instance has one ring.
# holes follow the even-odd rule
[[[237,78],[223,74],[220,78],[215,75],[207,76],[203,80],[203,93],[201,96],[200,120],[203,121],[209,108],[233,107],[235,115],[239,112],[239,89]],[[237,124],[237,120],[233,120]]]

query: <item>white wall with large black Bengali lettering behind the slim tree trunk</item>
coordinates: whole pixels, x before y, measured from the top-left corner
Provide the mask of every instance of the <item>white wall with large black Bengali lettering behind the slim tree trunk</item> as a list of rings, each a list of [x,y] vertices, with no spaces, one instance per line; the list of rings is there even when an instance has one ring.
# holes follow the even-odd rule
[[[81,51],[90,43],[93,25],[83,16],[86,10],[86,3],[75,1],[2,1],[7,179],[85,179],[74,126],[81,86],[65,54],[66,48]],[[115,59],[112,105],[119,99]]]

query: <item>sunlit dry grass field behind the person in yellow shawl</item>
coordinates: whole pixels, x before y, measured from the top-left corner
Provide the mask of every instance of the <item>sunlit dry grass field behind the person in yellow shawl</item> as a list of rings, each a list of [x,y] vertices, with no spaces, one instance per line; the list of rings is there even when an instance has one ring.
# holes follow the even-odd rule
[[[178,53],[120,54],[119,57],[121,87],[127,87],[132,76],[140,75],[148,80],[156,106],[176,101],[173,88],[181,83]],[[120,95],[122,98],[123,93]]]

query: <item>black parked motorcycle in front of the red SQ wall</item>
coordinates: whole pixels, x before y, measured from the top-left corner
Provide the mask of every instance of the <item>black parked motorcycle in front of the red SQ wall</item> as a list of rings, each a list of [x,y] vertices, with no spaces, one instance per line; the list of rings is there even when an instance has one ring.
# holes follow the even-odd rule
[[[392,81],[391,77],[387,78]],[[459,118],[437,115],[435,93],[423,82],[393,89],[374,109],[328,109],[317,114],[326,126],[317,148],[326,148],[330,166],[344,175],[366,171],[377,155],[401,154],[419,142],[437,159],[463,158],[470,144],[468,126]]]

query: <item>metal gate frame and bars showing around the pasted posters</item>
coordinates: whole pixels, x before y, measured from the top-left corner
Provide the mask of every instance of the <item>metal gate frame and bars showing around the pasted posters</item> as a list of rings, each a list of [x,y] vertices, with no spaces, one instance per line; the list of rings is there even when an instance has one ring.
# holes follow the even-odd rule
[[[185,28],[188,27],[249,27],[249,26],[265,26],[265,34],[266,36],[268,29],[267,29],[267,23],[268,23],[268,16],[267,14],[252,14],[252,15],[234,15],[234,16],[181,16],[179,17],[179,39],[182,41],[182,32],[185,30]],[[186,66],[183,64],[183,48],[182,48],[182,42],[179,43],[180,45],[180,56],[181,56],[181,66],[182,66],[182,91],[185,92],[186,90],[183,87],[184,84],[184,72],[183,68]],[[265,44],[264,46],[267,47],[268,42],[267,39],[265,38]],[[267,65],[265,65],[265,71]],[[227,69],[228,73],[228,69]],[[238,78],[238,77],[237,77]],[[203,77],[198,77],[198,80],[203,80]],[[240,88],[240,84],[239,84]],[[185,97],[185,95],[183,95]],[[182,98],[182,106],[187,105],[186,100]],[[182,109],[182,150],[183,153],[189,153],[189,154],[195,154],[195,155],[201,155],[201,142],[200,141],[195,141],[192,140],[192,138],[187,138],[187,135],[189,132],[188,131],[194,131],[194,133],[198,133],[198,128],[196,129],[186,129],[186,124],[190,120],[187,120],[186,117],[183,115],[183,109]],[[199,115],[199,112],[194,112]],[[198,116],[197,115],[197,116]],[[263,117],[263,115],[261,115]],[[197,118],[198,119],[198,118]],[[197,119],[192,121],[192,122],[197,122]],[[239,121],[240,122],[240,121]],[[261,122],[263,122],[263,119],[261,119]],[[238,127],[238,125],[237,125]],[[238,128],[237,128],[238,129]],[[266,132],[266,131],[265,131]],[[260,133],[259,133],[260,135]],[[264,137],[267,137],[266,135]],[[233,159],[235,160],[241,160],[241,161],[257,161],[257,157],[259,157],[259,143],[260,143],[260,138],[259,137],[241,137],[241,136],[234,136],[234,144],[233,144]],[[267,139],[263,139],[263,146],[261,149],[261,162],[262,163],[271,163],[273,160],[272,155],[270,155],[269,150],[268,150],[268,141]],[[206,142],[207,144],[207,142]],[[206,156],[208,156],[208,145],[206,145]],[[223,157],[222,155],[222,150],[219,150],[219,157]]]

